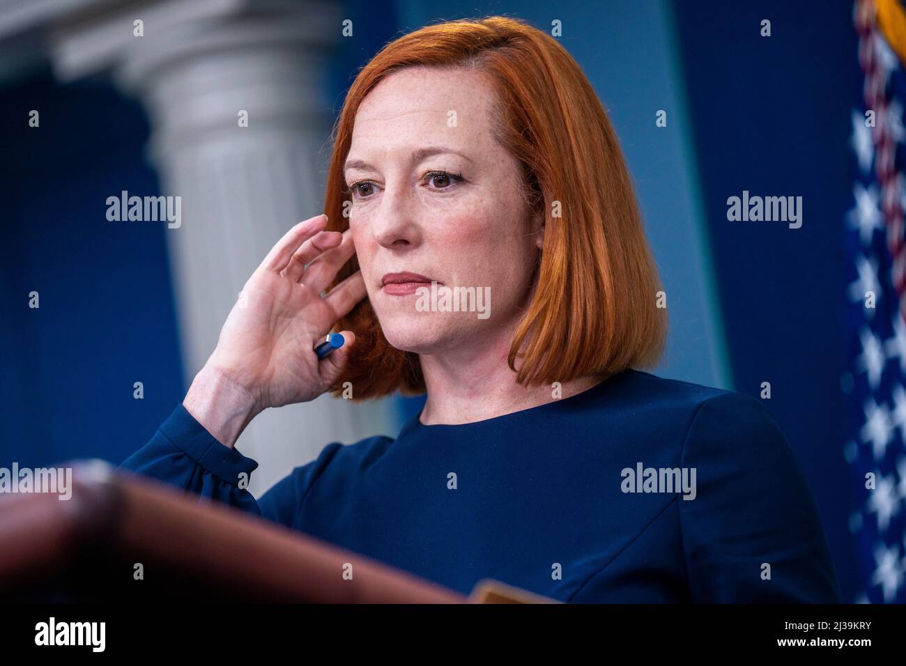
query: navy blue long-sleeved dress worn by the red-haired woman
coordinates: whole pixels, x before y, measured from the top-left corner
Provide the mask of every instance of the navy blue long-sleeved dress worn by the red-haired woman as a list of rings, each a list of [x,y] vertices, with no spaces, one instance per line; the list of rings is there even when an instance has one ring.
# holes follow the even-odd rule
[[[463,594],[494,578],[574,603],[840,603],[814,497],[766,408],[648,372],[333,442],[257,501],[239,487],[255,460],[182,405],[122,467]]]

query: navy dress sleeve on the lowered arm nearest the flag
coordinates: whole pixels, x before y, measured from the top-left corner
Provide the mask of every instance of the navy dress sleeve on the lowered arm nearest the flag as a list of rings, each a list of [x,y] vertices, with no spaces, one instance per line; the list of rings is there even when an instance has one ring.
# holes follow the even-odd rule
[[[770,412],[731,391],[699,405],[681,454],[694,499],[678,497],[691,601],[840,603],[814,497]]]

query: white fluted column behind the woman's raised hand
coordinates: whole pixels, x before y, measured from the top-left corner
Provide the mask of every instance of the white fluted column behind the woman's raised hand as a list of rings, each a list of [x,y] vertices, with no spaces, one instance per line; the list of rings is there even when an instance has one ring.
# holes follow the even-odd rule
[[[323,210],[333,121],[323,79],[342,16],[333,3],[262,4],[254,15],[232,12],[243,3],[208,3],[220,8],[201,15],[199,5],[166,5],[165,14],[136,8],[63,30],[56,62],[72,79],[109,60],[149,111],[161,194],[182,199],[181,226],[166,235],[188,383],[255,266],[289,227]],[[144,37],[131,35],[135,18]],[[106,60],[97,43],[105,34],[117,44]],[[260,463],[250,486],[260,496],[327,443],[395,435],[398,425],[390,401],[322,396],[265,411],[237,449]]]

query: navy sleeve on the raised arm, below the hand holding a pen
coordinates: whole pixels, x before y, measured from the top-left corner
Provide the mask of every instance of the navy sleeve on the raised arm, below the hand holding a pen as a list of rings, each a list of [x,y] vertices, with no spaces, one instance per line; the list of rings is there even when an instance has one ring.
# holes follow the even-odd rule
[[[340,446],[333,443],[326,447],[317,460],[294,468],[256,501],[246,487],[258,463],[221,444],[179,404],[149,442],[126,458],[120,468],[294,526],[296,509],[307,487]]]

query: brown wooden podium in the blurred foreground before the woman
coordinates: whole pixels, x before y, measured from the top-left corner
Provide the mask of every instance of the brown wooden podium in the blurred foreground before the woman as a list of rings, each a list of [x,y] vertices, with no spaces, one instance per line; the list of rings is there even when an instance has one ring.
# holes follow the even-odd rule
[[[147,478],[73,467],[71,499],[0,495],[0,599],[559,603],[490,579],[466,596]]]

